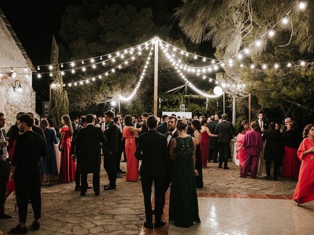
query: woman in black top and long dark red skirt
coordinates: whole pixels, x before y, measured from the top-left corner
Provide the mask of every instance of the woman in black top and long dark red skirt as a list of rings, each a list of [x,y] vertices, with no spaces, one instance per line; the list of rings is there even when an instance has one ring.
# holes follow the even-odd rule
[[[283,178],[298,179],[300,171],[300,160],[297,156],[297,150],[300,145],[300,136],[295,130],[293,122],[287,124],[287,131],[283,133],[282,139],[285,145],[285,155],[283,160]]]

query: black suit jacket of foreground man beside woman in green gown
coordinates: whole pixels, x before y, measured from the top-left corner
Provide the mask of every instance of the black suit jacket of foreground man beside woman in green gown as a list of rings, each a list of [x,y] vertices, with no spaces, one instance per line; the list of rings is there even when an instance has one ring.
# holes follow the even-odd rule
[[[156,130],[138,136],[135,157],[142,160],[140,175],[165,175],[164,160],[168,157],[166,136]]]

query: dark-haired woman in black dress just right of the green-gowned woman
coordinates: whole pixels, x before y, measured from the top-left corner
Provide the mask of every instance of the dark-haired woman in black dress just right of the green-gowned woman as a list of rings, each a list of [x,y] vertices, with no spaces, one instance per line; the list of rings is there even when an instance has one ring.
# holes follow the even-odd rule
[[[201,122],[197,119],[193,119],[191,122],[191,128],[193,130],[192,137],[196,141],[195,151],[195,169],[198,171],[198,176],[195,176],[196,188],[203,188],[203,172],[202,172],[202,153],[201,153]]]

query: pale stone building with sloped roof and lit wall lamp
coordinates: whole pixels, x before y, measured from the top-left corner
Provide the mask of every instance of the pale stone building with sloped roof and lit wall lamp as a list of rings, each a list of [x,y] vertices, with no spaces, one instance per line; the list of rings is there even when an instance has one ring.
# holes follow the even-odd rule
[[[15,123],[18,112],[35,114],[35,92],[32,89],[32,72],[35,71],[20,40],[0,9],[0,112],[6,116],[6,130]],[[19,85],[22,91],[18,89]],[[16,87],[15,91],[13,87]]]

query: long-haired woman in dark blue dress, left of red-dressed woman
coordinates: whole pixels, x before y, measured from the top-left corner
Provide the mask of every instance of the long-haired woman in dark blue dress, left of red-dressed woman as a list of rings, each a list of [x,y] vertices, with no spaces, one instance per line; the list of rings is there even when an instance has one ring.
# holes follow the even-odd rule
[[[54,144],[58,143],[55,130],[49,127],[46,119],[41,120],[41,127],[46,137],[46,156],[41,158],[42,175],[47,174],[47,184],[51,186],[51,176],[58,175],[57,158],[55,154]]]

